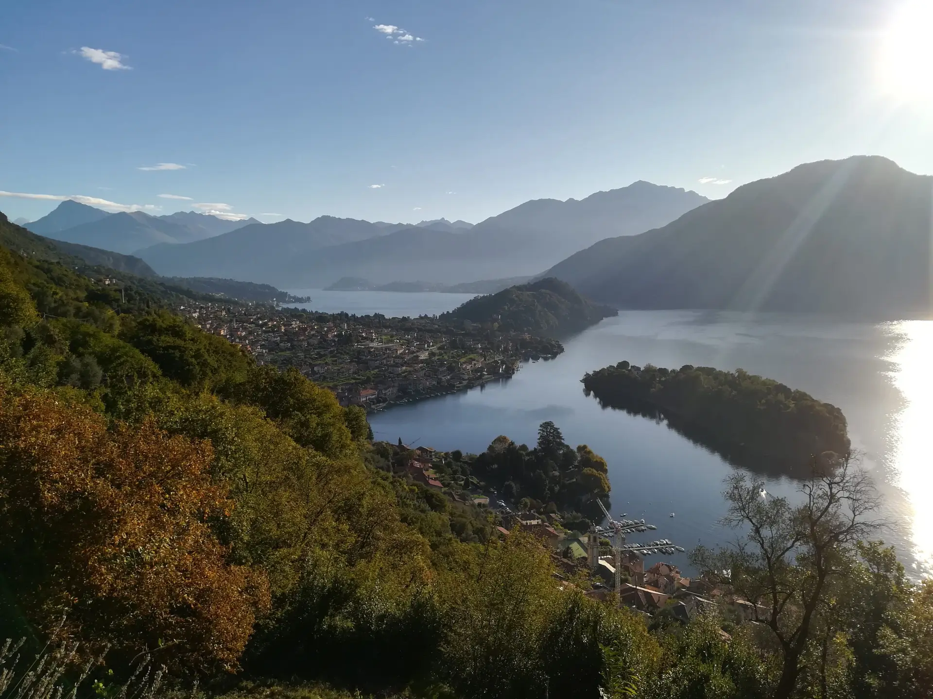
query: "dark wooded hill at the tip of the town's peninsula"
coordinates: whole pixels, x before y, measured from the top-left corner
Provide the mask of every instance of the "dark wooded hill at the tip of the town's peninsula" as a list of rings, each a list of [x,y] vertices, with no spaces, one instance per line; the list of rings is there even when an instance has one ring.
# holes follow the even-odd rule
[[[594,304],[570,284],[547,277],[477,296],[440,316],[441,321],[471,322],[494,330],[561,337],[578,333],[619,311]]]

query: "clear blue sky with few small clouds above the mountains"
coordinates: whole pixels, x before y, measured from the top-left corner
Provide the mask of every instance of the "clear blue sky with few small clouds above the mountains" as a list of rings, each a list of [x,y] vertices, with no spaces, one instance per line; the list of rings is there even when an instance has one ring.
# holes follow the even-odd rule
[[[478,222],[856,154],[933,174],[931,2],[4,3],[0,211]]]

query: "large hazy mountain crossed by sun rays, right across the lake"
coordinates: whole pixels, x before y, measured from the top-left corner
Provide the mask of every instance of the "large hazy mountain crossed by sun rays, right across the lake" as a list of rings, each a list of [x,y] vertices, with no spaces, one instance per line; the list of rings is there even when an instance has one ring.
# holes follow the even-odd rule
[[[619,308],[922,310],[931,189],[886,158],[809,163],[547,274]]]

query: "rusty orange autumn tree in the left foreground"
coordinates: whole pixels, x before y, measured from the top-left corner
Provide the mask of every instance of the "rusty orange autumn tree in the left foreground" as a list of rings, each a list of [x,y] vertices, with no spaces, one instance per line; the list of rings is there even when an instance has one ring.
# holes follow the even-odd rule
[[[231,566],[208,520],[231,503],[211,446],[136,429],[54,394],[0,387],[0,559],[28,617],[111,658],[151,651],[174,669],[237,666],[265,576]]]

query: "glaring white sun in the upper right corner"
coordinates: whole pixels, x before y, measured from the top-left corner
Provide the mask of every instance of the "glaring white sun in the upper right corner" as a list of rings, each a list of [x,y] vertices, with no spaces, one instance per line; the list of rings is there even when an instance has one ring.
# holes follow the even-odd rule
[[[933,102],[933,0],[907,0],[884,31],[878,62],[884,92]]]

